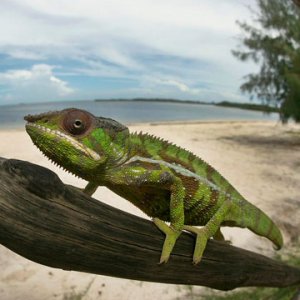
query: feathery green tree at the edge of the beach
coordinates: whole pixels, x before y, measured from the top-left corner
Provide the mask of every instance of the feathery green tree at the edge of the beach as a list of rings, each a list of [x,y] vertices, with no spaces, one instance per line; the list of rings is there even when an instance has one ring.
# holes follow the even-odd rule
[[[300,9],[298,0],[257,0],[255,25],[237,22],[244,36],[242,49],[232,53],[241,61],[261,65],[249,74],[241,90],[264,103],[281,107],[281,120],[300,121]],[[298,99],[298,100],[297,100]]]

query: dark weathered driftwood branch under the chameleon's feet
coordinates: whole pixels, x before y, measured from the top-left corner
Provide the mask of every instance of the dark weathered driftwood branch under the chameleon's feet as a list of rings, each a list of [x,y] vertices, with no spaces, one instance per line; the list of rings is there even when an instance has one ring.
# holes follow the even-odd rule
[[[159,265],[163,240],[152,222],[64,185],[50,170],[0,158],[0,243],[35,262],[221,290],[300,284],[299,269],[221,242],[210,241],[194,266],[194,237],[186,233],[170,261]]]

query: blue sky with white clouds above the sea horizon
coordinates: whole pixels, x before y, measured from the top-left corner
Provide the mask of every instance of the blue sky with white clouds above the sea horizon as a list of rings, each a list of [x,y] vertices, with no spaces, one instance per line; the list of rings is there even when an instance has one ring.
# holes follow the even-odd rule
[[[111,98],[248,102],[236,20],[255,0],[1,0],[0,105]]]

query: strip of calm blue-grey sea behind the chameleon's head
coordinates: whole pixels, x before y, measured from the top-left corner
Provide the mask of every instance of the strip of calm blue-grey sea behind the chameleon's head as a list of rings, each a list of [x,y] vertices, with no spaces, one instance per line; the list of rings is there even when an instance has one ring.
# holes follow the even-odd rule
[[[214,105],[156,101],[66,101],[0,106],[0,128],[21,128],[27,114],[76,107],[121,123],[167,121],[278,120],[278,114]]]

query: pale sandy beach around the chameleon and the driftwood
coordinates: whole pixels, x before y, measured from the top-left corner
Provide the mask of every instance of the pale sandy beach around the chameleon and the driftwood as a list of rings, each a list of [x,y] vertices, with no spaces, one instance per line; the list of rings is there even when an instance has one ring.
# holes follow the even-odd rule
[[[134,124],[144,131],[182,146],[209,162],[250,202],[264,210],[282,229],[286,247],[300,231],[300,127],[274,122],[195,122]],[[68,184],[85,182],[49,162],[33,146],[25,130],[0,130],[0,156],[27,160],[55,171]],[[105,188],[95,198],[136,215],[141,211]],[[246,229],[225,228],[236,246],[268,256],[272,244]],[[33,263],[0,246],[0,299],[176,299],[187,287],[138,282],[52,269]],[[69,298],[68,298],[69,297]],[[81,298],[76,298],[81,299]]]

